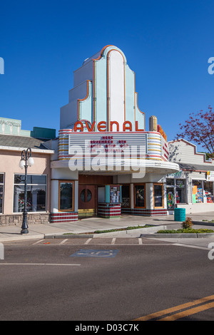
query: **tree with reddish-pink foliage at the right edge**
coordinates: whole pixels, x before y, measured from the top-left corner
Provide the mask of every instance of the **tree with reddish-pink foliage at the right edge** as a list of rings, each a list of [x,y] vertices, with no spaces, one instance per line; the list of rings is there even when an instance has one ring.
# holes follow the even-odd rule
[[[210,105],[206,112],[190,113],[188,120],[179,125],[182,131],[177,134],[177,139],[184,138],[200,145],[205,148],[208,157],[214,158],[214,113]]]

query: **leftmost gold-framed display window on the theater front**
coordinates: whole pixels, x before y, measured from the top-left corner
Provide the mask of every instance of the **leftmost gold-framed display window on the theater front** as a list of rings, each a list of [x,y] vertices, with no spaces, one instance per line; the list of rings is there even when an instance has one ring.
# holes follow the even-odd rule
[[[59,210],[73,211],[73,182],[59,182]]]

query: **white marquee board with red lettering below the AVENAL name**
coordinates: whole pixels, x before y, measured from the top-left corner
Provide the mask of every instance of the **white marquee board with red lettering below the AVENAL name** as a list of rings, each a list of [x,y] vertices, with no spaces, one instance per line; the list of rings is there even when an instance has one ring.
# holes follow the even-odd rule
[[[168,161],[168,143],[158,132],[88,132],[59,130],[59,160],[70,159],[78,151],[83,155],[130,153],[138,158]],[[158,163],[158,162],[156,162]]]

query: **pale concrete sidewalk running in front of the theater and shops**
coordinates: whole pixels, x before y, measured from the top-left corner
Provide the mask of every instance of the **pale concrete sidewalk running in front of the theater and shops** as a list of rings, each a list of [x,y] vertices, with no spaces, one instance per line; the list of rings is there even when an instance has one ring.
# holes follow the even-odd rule
[[[186,215],[191,217],[194,223],[193,228],[209,228],[214,230],[214,222],[207,223],[203,220],[214,220],[214,213],[197,213]],[[178,229],[182,222],[175,222],[173,215],[158,217],[141,217],[133,215],[122,215],[119,218],[104,219],[92,217],[78,220],[77,222],[53,223],[49,225],[29,225],[29,234],[21,234],[21,225],[0,227],[0,242],[20,241],[23,239],[44,239],[44,238],[68,238],[69,235],[62,237],[66,233],[82,234],[91,232],[91,237],[140,237],[143,233],[153,233],[160,229]],[[142,228],[137,230],[125,230],[122,232],[110,232],[93,235],[96,230],[111,230],[126,227],[135,227],[138,225],[153,225],[151,228]],[[72,236],[72,235],[71,235]],[[73,236],[74,237],[74,236]],[[88,236],[89,237],[89,236]]]

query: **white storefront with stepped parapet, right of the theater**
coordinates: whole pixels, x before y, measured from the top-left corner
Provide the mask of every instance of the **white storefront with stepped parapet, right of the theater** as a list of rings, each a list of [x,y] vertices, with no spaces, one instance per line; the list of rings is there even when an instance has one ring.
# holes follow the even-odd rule
[[[198,153],[192,143],[180,139],[170,141],[170,161],[178,163],[179,172],[165,177],[167,208],[183,207],[186,213],[214,211],[214,164]]]

